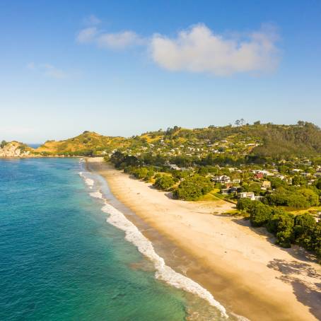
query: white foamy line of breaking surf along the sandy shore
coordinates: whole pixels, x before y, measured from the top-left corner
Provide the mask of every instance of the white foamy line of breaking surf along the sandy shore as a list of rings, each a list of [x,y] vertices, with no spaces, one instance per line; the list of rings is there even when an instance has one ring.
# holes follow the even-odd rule
[[[88,178],[83,172],[80,172],[79,175],[83,177],[83,180],[85,180],[86,184],[92,189],[94,180]],[[139,231],[139,229],[131,221],[129,221],[124,214],[122,214],[121,211],[115,209],[114,206],[107,204],[103,194],[100,191],[91,192],[90,195],[94,198],[103,199],[105,204],[102,207],[102,211],[106,214],[109,214],[106,221],[120,230],[124,230],[125,239],[134,244],[141,254],[145,255],[151,260],[151,262],[153,262],[156,268],[156,279],[165,281],[176,288],[193,293],[194,295],[207,300],[210,305],[214,306],[220,311],[222,317],[228,318],[226,308],[224,308],[221,303],[215,300],[214,296],[212,296],[209,291],[192,279],[187,278],[187,276],[183,276],[182,274],[175,272],[171,267],[168,267],[168,265],[165,264],[163,257],[160,257],[155,252],[151,241],[148,240]]]

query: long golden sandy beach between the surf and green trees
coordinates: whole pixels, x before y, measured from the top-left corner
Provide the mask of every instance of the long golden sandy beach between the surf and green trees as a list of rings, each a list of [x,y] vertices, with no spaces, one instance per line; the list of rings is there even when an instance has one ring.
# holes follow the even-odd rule
[[[120,202],[177,247],[189,262],[185,274],[228,310],[250,320],[321,319],[320,265],[298,247],[274,245],[263,228],[224,215],[233,204],[171,199],[102,158],[89,158],[88,168],[105,177]],[[153,236],[142,232],[153,243]]]

